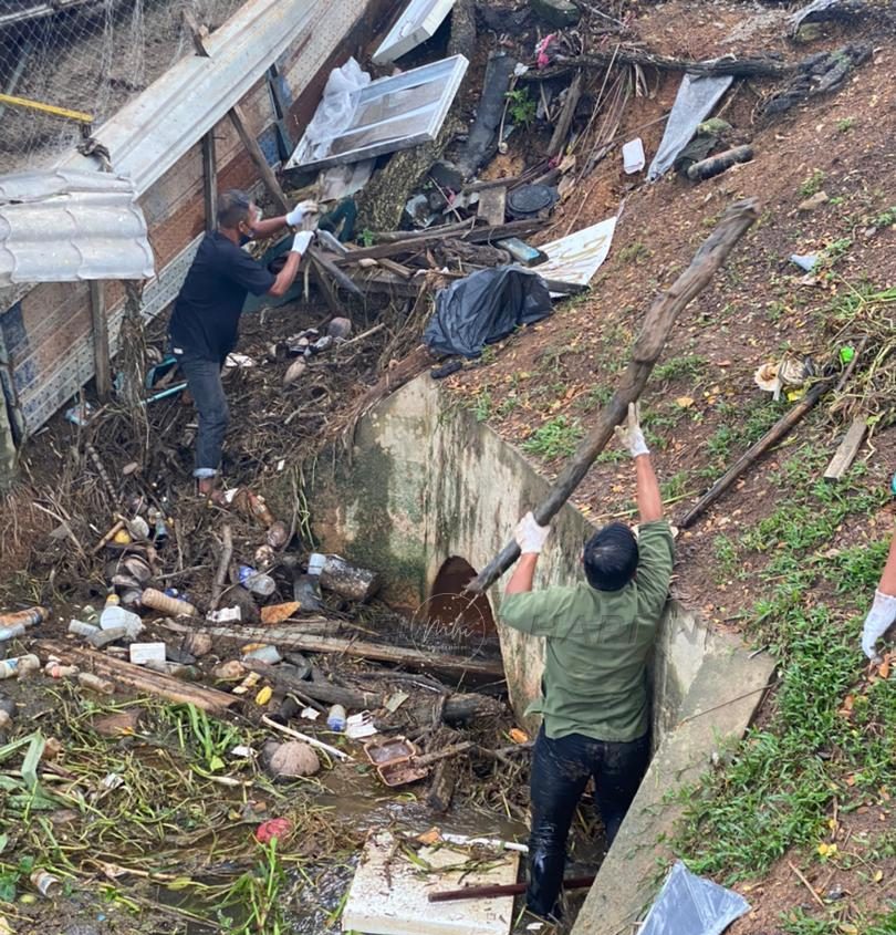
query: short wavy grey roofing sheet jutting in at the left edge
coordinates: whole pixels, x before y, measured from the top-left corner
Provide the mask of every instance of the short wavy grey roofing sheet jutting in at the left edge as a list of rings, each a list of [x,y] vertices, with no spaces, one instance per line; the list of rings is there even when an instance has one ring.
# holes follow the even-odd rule
[[[51,169],[0,176],[0,285],[154,274],[129,179]]]

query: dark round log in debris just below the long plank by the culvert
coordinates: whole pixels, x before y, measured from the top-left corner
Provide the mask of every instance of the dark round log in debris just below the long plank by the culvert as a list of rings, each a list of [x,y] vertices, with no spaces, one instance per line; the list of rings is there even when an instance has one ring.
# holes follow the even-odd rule
[[[243,665],[250,672],[263,675],[277,688],[301,693],[315,702],[325,705],[342,705],[346,710],[376,710],[386,705],[386,695],[381,692],[365,692],[361,688],[343,688],[331,682],[309,682],[294,675],[281,672],[275,665],[269,665],[260,659],[244,659]],[[388,673],[383,673],[384,682],[388,681]],[[409,704],[409,703],[406,703]],[[448,695],[441,709],[441,719],[446,724],[466,724],[479,717],[494,717],[504,710],[504,706],[487,695],[468,693]],[[429,723],[433,720],[433,704],[417,703],[410,708],[414,720]]]

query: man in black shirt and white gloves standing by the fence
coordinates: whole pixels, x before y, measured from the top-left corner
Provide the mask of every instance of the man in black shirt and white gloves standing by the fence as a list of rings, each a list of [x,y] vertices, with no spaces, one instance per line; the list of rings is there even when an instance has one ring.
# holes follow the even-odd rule
[[[215,489],[220,468],[230,419],[221,367],[237,345],[246,297],[249,292],[283,295],[295,280],[302,254],[314,235],[295,235],[285,266],[277,276],[252,259],[241,245],[253,237],[270,237],[286,225],[295,227],[312,211],[316,211],[316,205],[303,201],[288,215],[261,220],[261,211],[244,191],[225,191],[218,200],[218,229],[207,233],[199,245],[175,302],[168,331],[171,351],[199,414],[194,477],[204,496]]]

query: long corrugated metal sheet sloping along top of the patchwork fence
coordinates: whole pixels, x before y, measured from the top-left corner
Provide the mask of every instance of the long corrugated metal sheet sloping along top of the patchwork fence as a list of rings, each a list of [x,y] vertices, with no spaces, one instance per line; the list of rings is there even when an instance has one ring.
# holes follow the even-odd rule
[[[335,49],[365,12],[367,0],[249,0],[205,40],[209,58],[181,59],[94,136],[116,173],[143,195],[215,126],[302,33]],[[95,163],[73,153],[60,165]]]

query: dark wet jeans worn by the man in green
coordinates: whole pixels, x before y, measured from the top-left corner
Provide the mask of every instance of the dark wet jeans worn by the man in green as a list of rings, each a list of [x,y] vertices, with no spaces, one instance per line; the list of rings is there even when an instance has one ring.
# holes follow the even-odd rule
[[[635,798],[650,757],[649,737],[614,744],[571,734],[551,740],[542,727],[532,754],[532,833],[529,838],[527,907],[559,916],[556,905],[566,863],[566,835],[585,786],[594,777],[595,797],[613,843]]]

